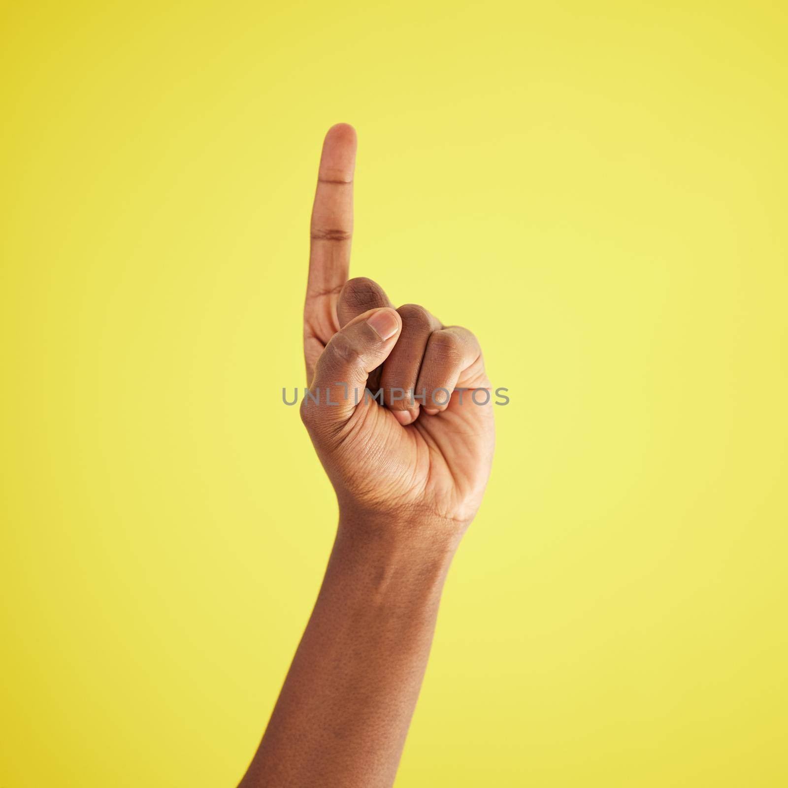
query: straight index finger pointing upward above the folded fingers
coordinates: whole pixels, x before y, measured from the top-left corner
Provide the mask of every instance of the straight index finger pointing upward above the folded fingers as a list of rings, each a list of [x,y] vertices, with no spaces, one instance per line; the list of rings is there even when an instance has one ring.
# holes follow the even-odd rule
[[[336,295],[348,279],[355,149],[355,128],[347,123],[329,128],[312,206],[307,299]]]

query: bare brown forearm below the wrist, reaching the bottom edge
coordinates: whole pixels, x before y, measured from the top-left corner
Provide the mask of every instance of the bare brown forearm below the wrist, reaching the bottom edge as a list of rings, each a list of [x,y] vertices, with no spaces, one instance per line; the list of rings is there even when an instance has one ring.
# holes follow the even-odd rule
[[[392,784],[455,549],[421,525],[340,522],[243,788]]]

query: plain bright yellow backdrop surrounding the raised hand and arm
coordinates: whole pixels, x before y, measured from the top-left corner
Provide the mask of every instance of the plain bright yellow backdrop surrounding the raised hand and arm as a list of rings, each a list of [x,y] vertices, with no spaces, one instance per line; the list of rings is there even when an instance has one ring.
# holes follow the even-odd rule
[[[781,5],[3,7],[3,788],[255,749],[335,525],[281,387],[336,121],[352,273],[511,396],[398,788],[788,784]]]

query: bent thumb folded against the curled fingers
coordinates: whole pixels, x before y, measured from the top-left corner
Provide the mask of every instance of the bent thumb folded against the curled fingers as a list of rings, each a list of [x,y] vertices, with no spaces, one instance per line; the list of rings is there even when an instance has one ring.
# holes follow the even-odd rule
[[[314,367],[310,396],[301,403],[305,421],[311,420],[310,409],[320,422],[348,418],[364,401],[367,376],[388,358],[401,330],[397,311],[382,307],[359,314],[334,334]]]

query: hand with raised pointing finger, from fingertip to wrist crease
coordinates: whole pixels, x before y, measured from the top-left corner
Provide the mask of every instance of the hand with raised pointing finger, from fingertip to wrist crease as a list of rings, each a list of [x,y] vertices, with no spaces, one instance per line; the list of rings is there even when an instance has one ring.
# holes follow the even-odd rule
[[[395,310],[369,279],[348,281],[355,148],[344,124],[323,143],[303,314],[313,397],[301,416],[342,522],[456,541],[481,504],[495,442],[481,349],[467,329],[415,304]],[[365,388],[382,388],[385,404]],[[426,400],[411,403],[411,392]]]

